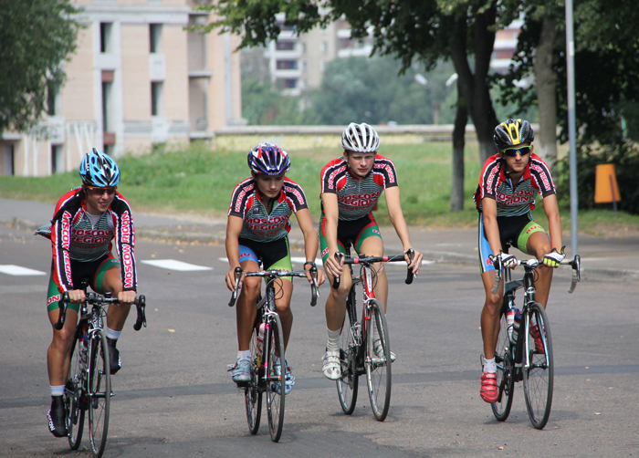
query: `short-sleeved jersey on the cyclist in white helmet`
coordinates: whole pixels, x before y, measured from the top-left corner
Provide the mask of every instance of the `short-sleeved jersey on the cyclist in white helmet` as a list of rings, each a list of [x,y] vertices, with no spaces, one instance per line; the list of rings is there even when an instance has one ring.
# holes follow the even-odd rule
[[[343,157],[330,161],[321,170],[321,192],[337,194],[340,220],[353,221],[371,213],[382,191],[397,186],[393,161],[375,156],[372,171],[364,178],[354,176]]]

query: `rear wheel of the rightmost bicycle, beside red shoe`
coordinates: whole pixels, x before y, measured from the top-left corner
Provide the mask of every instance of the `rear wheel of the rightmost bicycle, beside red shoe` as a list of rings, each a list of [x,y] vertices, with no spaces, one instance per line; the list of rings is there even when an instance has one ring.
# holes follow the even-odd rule
[[[497,348],[495,349],[498,401],[490,404],[493,414],[499,422],[504,422],[508,418],[510,409],[512,408],[513,391],[515,390],[515,382],[513,380],[515,365],[512,357],[512,346],[510,345],[510,338],[508,337],[507,311],[508,303],[506,299],[504,299],[504,304],[499,312],[501,318],[499,321]]]

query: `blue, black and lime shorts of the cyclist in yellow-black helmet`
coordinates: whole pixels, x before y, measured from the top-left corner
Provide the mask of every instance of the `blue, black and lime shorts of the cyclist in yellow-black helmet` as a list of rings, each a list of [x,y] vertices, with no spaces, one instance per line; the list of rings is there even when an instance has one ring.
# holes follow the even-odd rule
[[[498,216],[499,239],[504,253],[508,253],[508,245],[517,246],[519,251],[528,255],[526,244],[531,234],[546,232],[543,227],[535,223],[532,214],[526,213],[519,216]],[[479,213],[479,263],[481,273],[495,270],[490,255],[495,255],[488,244],[484,232],[484,213]]]

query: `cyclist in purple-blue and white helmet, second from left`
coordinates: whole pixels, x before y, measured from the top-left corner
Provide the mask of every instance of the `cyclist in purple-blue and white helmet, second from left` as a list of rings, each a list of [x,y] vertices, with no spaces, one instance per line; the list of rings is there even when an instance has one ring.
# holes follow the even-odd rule
[[[230,270],[226,274],[226,286],[236,288],[235,270],[259,270],[259,260],[265,269],[292,270],[288,247],[289,217],[295,213],[299,227],[304,234],[304,268],[310,270],[315,265],[318,252],[318,233],[313,227],[313,218],[304,190],[298,183],[284,176],[290,168],[286,151],[271,143],[260,143],[248,153],[248,167],[251,177],[240,182],[231,198],[226,224],[226,256]],[[312,278],[309,276],[309,282]],[[290,310],[290,296],[293,284],[290,278],[277,280],[276,289],[282,293],[276,298],[278,315],[282,322],[284,345],[288,345],[293,313]],[[324,282],[324,273],[318,272],[318,283]],[[236,302],[237,317],[237,359],[231,370],[231,377],[238,386],[245,386],[250,380],[250,340],[257,313],[257,295],[261,279],[257,276],[244,278]],[[276,362],[276,370],[281,361]],[[287,368],[286,389],[288,393],[295,378]],[[281,372],[280,372],[281,373]],[[281,390],[281,386],[279,386]]]

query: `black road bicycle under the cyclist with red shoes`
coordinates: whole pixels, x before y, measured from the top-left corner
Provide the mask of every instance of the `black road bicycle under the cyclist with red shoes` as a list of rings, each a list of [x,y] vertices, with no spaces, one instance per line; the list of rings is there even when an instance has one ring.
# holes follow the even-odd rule
[[[571,261],[562,261],[561,265],[571,265],[572,279],[568,289],[572,293],[581,280],[581,258],[575,255]],[[552,389],[554,383],[554,363],[552,356],[552,338],[550,322],[546,310],[535,300],[536,269],[543,261],[529,259],[517,261],[523,265],[523,278],[510,281],[510,269],[505,269],[506,284],[504,300],[499,312],[500,328],[495,361],[497,362],[498,400],[491,404],[493,414],[499,422],[508,418],[512,407],[515,382],[523,380],[526,397],[526,410],[532,425],[541,430],[550,417]],[[493,294],[497,294],[501,282],[502,269],[496,270]],[[515,319],[508,322],[508,315],[517,314],[515,292],[524,289],[524,302],[520,312],[520,324]],[[508,313],[510,311],[510,313]]]

